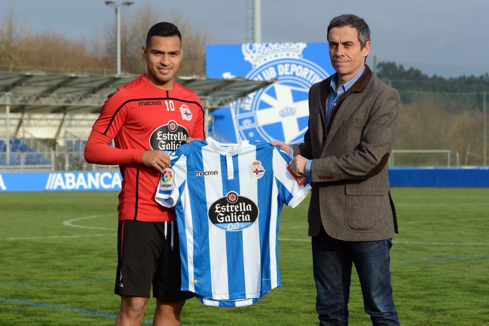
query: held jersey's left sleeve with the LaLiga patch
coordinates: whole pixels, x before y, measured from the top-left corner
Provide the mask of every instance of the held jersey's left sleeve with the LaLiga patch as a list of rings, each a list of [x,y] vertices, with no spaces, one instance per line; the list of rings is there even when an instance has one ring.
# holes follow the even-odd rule
[[[186,181],[187,159],[185,155],[175,156],[171,168],[166,168],[160,175],[155,200],[164,207],[173,207],[180,198],[180,186]]]

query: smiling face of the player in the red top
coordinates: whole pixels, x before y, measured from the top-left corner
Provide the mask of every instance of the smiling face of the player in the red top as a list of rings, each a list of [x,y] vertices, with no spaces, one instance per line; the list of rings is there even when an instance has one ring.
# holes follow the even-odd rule
[[[183,56],[180,39],[177,36],[153,36],[151,45],[141,49],[148,72],[146,76],[156,87],[173,88],[173,78],[178,71]]]

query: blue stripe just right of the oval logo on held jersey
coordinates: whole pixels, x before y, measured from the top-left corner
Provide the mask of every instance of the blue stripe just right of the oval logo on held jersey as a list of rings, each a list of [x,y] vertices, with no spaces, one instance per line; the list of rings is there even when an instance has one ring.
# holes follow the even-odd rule
[[[270,198],[273,174],[272,165],[273,151],[270,151],[269,147],[256,146],[256,159],[262,162],[262,166],[266,172],[261,178],[257,180],[257,192],[258,192],[258,210],[260,216],[258,217],[259,230],[260,230],[260,247],[261,249],[261,266],[262,266],[262,287],[261,294],[267,293],[271,290],[271,274],[270,274],[270,237],[268,230],[270,229],[270,206],[267,199]]]

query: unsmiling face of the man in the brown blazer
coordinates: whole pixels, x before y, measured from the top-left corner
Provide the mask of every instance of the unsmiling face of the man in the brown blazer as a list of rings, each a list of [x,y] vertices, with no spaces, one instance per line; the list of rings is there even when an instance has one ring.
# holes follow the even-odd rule
[[[360,49],[358,31],[351,26],[333,27],[328,35],[331,64],[343,83],[360,72],[370,52],[370,41]]]

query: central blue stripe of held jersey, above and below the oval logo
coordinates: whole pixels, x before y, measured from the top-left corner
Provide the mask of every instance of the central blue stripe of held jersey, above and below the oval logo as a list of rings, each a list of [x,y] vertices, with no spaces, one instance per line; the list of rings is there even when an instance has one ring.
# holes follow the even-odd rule
[[[233,156],[233,179],[227,178],[226,156],[221,155],[222,196],[230,191],[240,194],[240,174],[238,155]],[[244,285],[243,232],[226,231],[227,282],[229,299],[243,299],[246,295]]]

